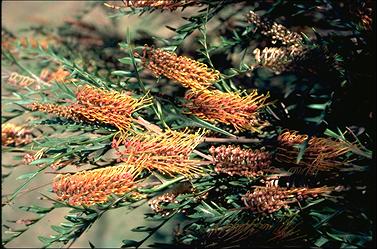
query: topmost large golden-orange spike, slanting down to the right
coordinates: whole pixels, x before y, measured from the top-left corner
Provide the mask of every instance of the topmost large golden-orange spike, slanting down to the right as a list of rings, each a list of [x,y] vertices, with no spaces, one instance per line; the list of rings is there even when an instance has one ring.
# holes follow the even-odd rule
[[[164,75],[194,90],[207,88],[220,78],[219,71],[210,69],[201,62],[147,46],[143,51],[142,63],[154,75]]]

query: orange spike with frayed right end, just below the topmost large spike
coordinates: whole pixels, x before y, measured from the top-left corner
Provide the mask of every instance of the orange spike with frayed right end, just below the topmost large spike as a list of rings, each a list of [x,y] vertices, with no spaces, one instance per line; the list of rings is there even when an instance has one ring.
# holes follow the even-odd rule
[[[188,113],[210,122],[220,122],[233,125],[237,130],[251,130],[260,132],[267,121],[261,121],[258,110],[266,106],[269,95],[258,95],[253,90],[247,96],[237,92],[224,93],[219,90],[188,91],[185,107]]]

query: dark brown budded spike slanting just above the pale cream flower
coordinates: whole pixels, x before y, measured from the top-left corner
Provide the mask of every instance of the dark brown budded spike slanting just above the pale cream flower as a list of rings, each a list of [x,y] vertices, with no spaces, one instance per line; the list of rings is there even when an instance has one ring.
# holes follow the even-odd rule
[[[262,19],[255,12],[250,11],[247,15],[249,23],[254,24],[261,30],[261,33],[272,38],[272,43],[281,41],[283,45],[301,47],[303,43],[302,36],[296,32],[288,30],[281,24],[270,22]]]

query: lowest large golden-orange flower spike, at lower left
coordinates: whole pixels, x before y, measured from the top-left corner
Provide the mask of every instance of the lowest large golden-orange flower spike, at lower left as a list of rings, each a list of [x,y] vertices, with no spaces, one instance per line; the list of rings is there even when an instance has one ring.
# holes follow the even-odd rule
[[[106,202],[111,194],[123,195],[134,186],[126,165],[87,170],[55,177],[52,186],[59,200],[72,206],[91,206]]]

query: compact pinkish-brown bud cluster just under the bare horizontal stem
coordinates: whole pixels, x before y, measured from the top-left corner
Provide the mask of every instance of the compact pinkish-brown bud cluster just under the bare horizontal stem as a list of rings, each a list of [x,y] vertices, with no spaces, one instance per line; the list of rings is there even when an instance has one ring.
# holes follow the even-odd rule
[[[241,149],[239,146],[212,146],[210,153],[215,164],[215,171],[228,175],[257,176],[264,173],[271,165],[268,152]]]

